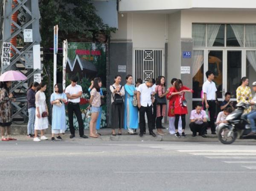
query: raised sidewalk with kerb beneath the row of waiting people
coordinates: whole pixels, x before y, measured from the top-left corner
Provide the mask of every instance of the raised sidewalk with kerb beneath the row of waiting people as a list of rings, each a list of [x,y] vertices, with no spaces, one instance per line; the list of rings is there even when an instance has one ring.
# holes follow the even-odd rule
[[[164,125],[164,127],[167,127],[167,124]],[[26,137],[26,125],[12,125],[12,135],[14,135],[15,138],[19,141],[32,141],[32,138]],[[62,135],[62,139],[64,141],[74,141],[74,142],[105,142],[105,141],[123,141],[123,142],[144,142],[144,141],[166,141],[166,142],[218,142],[217,136],[212,135],[211,131],[207,131],[207,137],[203,138],[201,136],[195,136],[192,137],[192,132],[189,128],[186,128],[186,138],[176,138],[174,135],[170,135],[168,130],[163,129],[163,131],[166,133],[166,135],[157,135],[156,137],[153,137],[149,135],[148,129],[146,129],[146,134],[143,135],[143,137],[140,137],[138,135],[130,135],[127,133],[127,130],[122,129],[122,135],[111,135],[111,128],[103,128],[99,130],[98,132],[102,134],[99,138],[89,138],[89,139],[81,139],[79,137],[79,132],[76,130],[76,137],[73,139],[70,139],[70,132],[66,131],[64,135]],[[154,129],[154,133],[156,133],[157,130]],[[51,131],[50,128],[47,129],[46,136],[48,139],[51,138]],[[116,133],[118,133],[118,130],[116,130]],[[139,130],[137,131],[139,133]],[[85,135],[89,135],[89,130],[84,130]],[[156,133],[157,134],[157,133]],[[255,142],[254,139],[236,139],[236,142]]]

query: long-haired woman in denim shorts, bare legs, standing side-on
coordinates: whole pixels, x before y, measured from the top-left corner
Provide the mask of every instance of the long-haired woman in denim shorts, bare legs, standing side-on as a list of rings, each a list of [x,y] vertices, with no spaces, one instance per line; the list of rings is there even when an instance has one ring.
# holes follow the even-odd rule
[[[90,110],[91,110],[91,120],[90,120],[90,137],[97,138],[96,134],[96,122],[99,117],[100,105],[101,105],[101,95],[100,88],[102,87],[101,78],[94,78],[93,88],[90,91]]]

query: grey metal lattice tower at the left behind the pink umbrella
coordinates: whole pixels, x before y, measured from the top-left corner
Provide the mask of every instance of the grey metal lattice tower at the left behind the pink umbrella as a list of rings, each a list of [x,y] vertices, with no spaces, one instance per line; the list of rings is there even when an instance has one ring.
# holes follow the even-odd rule
[[[12,15],[15,13],[18,15],[18,22],[12,20]],[[28,81],[33,81],[34,74],[41,75],[39,19],[38,0],[0,0],[0,55],[2,54],[3,42],[11,42],[13,38],[17,38],[22,44],[21,47],[11,45],[13,56],[10,65],[1,63],[1,73],[8,70],[19,70],[28,78],[26,81],[12,83],[10,93],[14,92],[19,97],[16,102],[12,102],[12,119],[21,118],[26,121]],[[32,29],[32,42],[24,42],[24,29]],[[28,51],[33,51],[33,69],[25,68],[23,56]]]

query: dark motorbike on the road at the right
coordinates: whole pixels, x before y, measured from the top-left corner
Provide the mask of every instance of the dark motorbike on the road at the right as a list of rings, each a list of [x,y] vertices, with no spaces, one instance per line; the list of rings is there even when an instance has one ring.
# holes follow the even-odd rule
[[[243,113],[250,106],[250,103],[239,102],[236,104],[236,109],[226,117],[227,123],[219,124],[217,135],[221,143],[232,144],[238,137],[240,139],[256,139],[256,135],[247,136],[251,131],[250,123]]]

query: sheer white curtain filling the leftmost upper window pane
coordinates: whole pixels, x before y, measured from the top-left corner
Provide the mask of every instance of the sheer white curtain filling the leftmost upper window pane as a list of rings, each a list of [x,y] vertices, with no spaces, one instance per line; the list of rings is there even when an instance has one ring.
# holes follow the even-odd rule
[[[192,24],[193,46],[205,46],[205,24]]]

